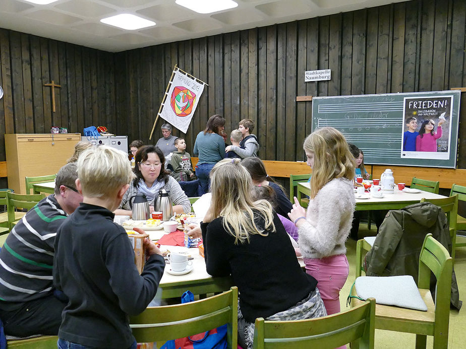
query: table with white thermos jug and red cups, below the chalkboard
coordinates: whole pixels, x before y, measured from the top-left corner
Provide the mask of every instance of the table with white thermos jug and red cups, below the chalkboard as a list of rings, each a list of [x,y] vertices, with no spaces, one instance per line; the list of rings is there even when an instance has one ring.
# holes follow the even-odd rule
[[[301,199],[302,194],[310,195],[311,193],[311,184],[308,182],[298,183],[297,197],[298,200]],[[406,193],[404,191],[398,190],[395,188],[393,194],[383,194],[382,198],[372,197],[368,192],[366,192],[367,199],[358,199],[356,198],[356,211],[368,211],[368,210],[399,210],[404,206],[411,205],[416,202],[420,202],[421,198],[425,197],[426,199],[439,199],[445,198],[446,196],[430,193],[427,191],[421,190],[420,193],[412,194]]]

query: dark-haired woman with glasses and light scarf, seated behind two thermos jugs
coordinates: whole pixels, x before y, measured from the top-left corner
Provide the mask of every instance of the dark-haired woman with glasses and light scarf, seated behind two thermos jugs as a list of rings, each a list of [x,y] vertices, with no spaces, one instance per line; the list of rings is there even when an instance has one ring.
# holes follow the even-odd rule
[[[173,212],[191,212],[191,203],[180,184],[173,177],[169,176],[165,170],[165,157],[162,151],[155,146],[143,146],[138,149],[135,156],[136,165],[134,173],[136,178],[130,188],[123,196],[115,215],[132,216],[130,199],[138,192],[146,195],[149,202],[150,212],[154,212],[154,201],[160,189],[165,189],[173,203]]]

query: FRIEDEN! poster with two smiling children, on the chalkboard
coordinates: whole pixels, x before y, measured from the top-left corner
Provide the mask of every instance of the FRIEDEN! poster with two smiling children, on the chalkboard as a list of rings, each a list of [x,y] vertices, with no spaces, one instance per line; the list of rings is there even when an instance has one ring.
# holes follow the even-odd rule
[[[405,97],[401,158],[448,160],[453,96]]]

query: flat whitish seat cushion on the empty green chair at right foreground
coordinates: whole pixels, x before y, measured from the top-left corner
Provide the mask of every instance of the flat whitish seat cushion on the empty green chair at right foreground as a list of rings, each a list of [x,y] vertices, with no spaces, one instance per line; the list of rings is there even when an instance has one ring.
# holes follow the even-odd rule
[[[411,275],[360,276],[356,279],[355,288],[364,300],[373,297],[377,304],[427,311]]]

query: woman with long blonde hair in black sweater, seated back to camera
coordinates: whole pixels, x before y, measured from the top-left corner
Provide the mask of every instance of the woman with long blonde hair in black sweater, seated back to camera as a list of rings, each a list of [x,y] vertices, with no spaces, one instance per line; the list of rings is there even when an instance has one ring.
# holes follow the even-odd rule
[[[253,182],[240,159],[210,172],[212,200],[201,223],[207,272],[231,278],[240,292],[238,342],[251,348],[254,321],[326,315],[314,277],[301,269],[278,216],[253,200]]]

